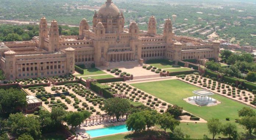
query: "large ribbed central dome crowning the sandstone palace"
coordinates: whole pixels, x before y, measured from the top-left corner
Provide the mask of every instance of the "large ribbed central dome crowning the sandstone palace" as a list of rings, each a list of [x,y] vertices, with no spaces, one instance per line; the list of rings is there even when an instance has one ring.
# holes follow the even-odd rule
[[[119,9],[111,0],[107,0],[106,3],[100,7],[98,15],[102,17],[108,17],[109,15],[117,17],[119,15]]]

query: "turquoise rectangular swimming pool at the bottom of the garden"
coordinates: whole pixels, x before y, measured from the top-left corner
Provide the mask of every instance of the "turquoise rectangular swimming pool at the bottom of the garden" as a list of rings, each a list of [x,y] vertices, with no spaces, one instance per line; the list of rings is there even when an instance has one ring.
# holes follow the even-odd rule
[[[117,133],[129,132],[126,125],[110,126],[107,128],[88,130],[86,133],[90,134],[90,137],[100,137]]]

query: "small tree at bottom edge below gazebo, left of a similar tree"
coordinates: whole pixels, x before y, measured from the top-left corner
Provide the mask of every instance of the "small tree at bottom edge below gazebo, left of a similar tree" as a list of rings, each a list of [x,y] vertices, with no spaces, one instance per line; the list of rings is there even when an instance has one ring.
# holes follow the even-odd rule
[[[213,134],[214,137],[221,132],[221,122],[219,119],[212,118],[210,121],[207,122],[207,128],[210,134]]]

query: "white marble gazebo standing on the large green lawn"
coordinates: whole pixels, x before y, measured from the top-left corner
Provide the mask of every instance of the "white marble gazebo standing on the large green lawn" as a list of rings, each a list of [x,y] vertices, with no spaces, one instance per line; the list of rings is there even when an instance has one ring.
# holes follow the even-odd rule
[[[193,91],[194,96],[189,97],[189,101],[195,101],[196,104],[203,106],[203,105],[209,105],[209,104],[216,104],[217,100],[212,98],[214,93],[211,91],[202,89],[202,90],[195,90]]]

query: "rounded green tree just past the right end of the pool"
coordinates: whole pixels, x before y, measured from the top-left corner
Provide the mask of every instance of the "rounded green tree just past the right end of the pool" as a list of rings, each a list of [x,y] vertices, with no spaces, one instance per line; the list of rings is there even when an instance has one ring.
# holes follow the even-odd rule
[[[141,132],[146,129],[146,118],[141,112],[129,115],[126,121],[127,129],[135,132]]]

